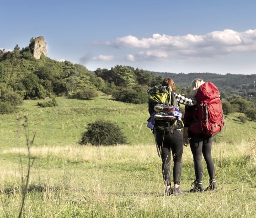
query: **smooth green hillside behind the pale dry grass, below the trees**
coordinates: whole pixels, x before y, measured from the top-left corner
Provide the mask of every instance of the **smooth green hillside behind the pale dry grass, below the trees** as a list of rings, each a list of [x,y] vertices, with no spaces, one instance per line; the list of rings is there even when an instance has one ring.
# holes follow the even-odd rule
[[[31,134],[36,132],[35,146],[76,145],[88,123],[99,120],[115,122],[128,137],[129,144],[154,143],[154,137],[146,127],[149,113],[147,104],[136,105],[111,100],[101,95],[94,100],[76,100],[57,97],[59,106],[41,108],[37,102],[48,100],[27,100],[19,112],[0,116],[0,149],[16,147],[24,136],[16,137],[16,119],[27,115]],[[255,136],[256,122],[241,123],[239,113],[225,117],[223,132],[214,137],[215,142],[239,142]]]

